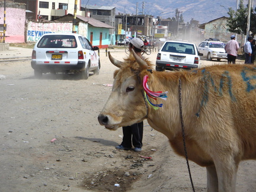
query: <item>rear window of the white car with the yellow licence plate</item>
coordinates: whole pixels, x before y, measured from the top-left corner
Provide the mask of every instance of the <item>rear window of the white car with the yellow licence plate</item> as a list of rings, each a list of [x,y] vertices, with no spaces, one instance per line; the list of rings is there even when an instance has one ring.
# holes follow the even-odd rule
[[[76,48],[76,40],[75,36],[67,36],[67,35],[51,35],[51,36],[43,36],[39,40],[37,44],[39,48],[63,48],[70,47]]]

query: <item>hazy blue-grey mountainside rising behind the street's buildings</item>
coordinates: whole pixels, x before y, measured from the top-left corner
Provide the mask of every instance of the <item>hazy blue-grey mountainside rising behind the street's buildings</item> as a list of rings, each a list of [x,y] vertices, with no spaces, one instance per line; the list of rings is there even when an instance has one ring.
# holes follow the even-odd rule
[[[175,9],[178,8],[183,15],[184,21],[189,22],[192,18],[199,21],[200,24],[215,20],[219,17],[229,17],[227,14],[229,7],[236,9],[236,0],[81,0],[81,4],[101,5],[116,7],[118,12],[124,14],[148,14],[154,17],[172,18],[175,17]],[[247,4],[248,1],[244,1]],[[256,0],[254,0],[256,5]],[[255,6],[254,6],[255,7]]]

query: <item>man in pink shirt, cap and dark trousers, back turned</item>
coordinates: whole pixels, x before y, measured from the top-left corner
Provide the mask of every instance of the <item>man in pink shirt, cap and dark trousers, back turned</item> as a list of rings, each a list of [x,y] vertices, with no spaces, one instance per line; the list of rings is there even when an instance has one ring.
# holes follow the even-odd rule
[[[237,52],[239,49],[239,44],[238,42],[235,40],[235,36],[232,35],[231,36],[231,40],[228,41],[228,43],[226,43],[225,45],[225,50],[228,53],[228,64],[235,64],[235,60],[237,57]]]

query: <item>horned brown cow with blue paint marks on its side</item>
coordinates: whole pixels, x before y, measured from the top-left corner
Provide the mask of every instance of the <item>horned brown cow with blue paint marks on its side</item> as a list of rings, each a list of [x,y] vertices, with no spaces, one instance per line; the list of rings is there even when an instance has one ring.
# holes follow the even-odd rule
[[[113,90],[98,121],[116,130],[148,120],[164,133],[172,148],[184,155],[179,107],[179,79],[188,159],[207,169],[207,189],[235,191],[238,164],[256,159],[256,68],[253,65],[216,65],[194,71],[157,72],[152,64],[130,56],[120,62],[110,53],[114,72]],[[151,91],[168,91],[167,100],[155,110],[146,101],[143,78]]]

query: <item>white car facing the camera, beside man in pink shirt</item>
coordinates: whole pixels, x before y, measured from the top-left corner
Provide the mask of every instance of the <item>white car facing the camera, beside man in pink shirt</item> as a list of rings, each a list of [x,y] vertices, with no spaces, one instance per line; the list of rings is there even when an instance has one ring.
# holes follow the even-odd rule
[[[199,53],[203,54],[202,57],[206,57],[207,60],[217,59],[217,61],[220,61],[220,59],[228,59],[224,47],[225,43],[222,41],[207,39],[201,42],[197,48]]]

